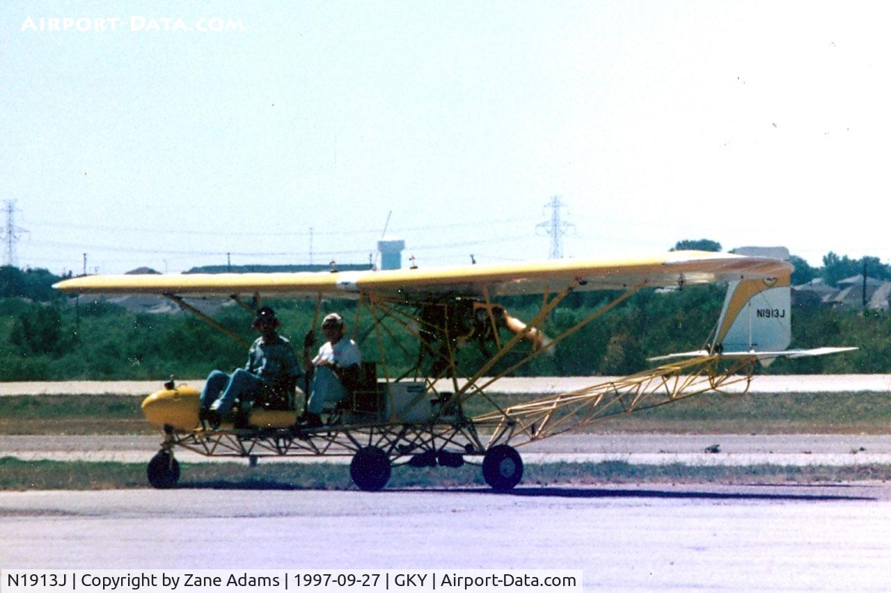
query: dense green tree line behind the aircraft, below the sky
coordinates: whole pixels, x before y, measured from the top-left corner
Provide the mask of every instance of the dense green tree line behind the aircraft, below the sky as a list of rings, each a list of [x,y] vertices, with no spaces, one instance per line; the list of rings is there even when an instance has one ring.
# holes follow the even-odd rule
[[[707,246],[710,250],[720,250],[719,244],[711,243],[714,245]],[[699,241],[675,245],[678,249],[691,247],[702,245]],[[871,276],[891,279],[891,270],[877,257],[853,260],[830,252],[821,267],[797,263],[796,273],[802,275],[793,283],[817,277],[831,283],[830,279],[862,272],[863,264]],[[0,380],[200,378],[209,370],[231,370],[244,364],[247,349],[243,345],[192,315],[133,313],[86,296],[64,296],[52,288],[59,280],[61,277],[46,270],[0,267]],[[538,356],[513,374],[625,374],[646,368],[648,356],[698,349],[715,325],[723,293],[720,286],[644,290],[560,342],[554,355]],[[569,295],[544,321],[544,333],[559,335],[614,296],[603,292]],[[537,311],[540,296],[515,296],[500,302],[511,315],[529,320]],[[301,345],[312,325],[315,303],[280,301],[270,305],[282,320],[282,334],[295,346]],[[329,311],[339,311],[345,319],[353,320],[356,303],[323,302],[322,313]],[[886,313],[795,307],[792,315],[791,347],[855,345],[860,350],[777,361],[764,372],[891,372],[891,317]],[[248,341],[255,337],[249,315],[240,307],[225,306],[214,317]],[[360,316],[356,326],[351,333],[358,338],[366,360],[380,361],[382,349],[391,376],[413,366],[418,345],[405,332],[399,337],[398,324],[391,328],[393,336],[380,337],[381,347],[367,315]],[[526,353],[505,357],[493,372],[508,368]],[[461,350],[459,360],[465,368],[475,369],[486,360],[486,353],[471,344]]]

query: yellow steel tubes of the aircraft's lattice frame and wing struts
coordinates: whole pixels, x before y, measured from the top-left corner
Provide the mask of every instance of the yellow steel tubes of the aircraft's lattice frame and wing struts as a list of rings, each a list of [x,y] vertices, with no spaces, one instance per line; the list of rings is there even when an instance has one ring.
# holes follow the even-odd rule
[[[752,378],[756,363],[755,357],[727,360],[718,354],[712,354],[694,358],[688,361],[675,362],[659,366],[652,370],[645,370],[628,377],[595,384],[593,386],[578,389],[565,394],[548,396],[531,402],[523,402],[512,406],[503,407],[495,399],[486,393],[486,388],[491,386],[499,378],[518,369],[520,366],[533,360],[544,353],[546,348],[533,348],[520,361],[511,364],[507,369],[497,373],[492,378],[483,380],[487,371],[492,370],[495,364],[511,352],[520,340],[533,330],[541,331],[541,325],[547,314],[560,304],[568,296],[581,280],[569,282],[554,296],[550,296],[550,290],[542,298],[542,305],[526,329],[516,333],[508,341],[503,342],[498,337],[498,326],[492,313],[493,303],[489,297],[488,288],[483,289],[485,298],[486,315],[493,329],[495,344],[499,346],[497,352],[491,356],[478,370],[470,374],[460,373],[459,365],[455,360],[452,349],[453,336],[449,335],[449,323],[446,317],[444,327],[431,326],[439,332],[440,339],[446,344],[447,369],[451,370],[451,378],[454,385],[454,410],[456,417],[444,416],[443,410],[437,411],[429,422],[420,424],[399,424],[387,421],[372,421],[362,424],[344,423],[339,426],[325,426],[319,429],[297,431],[293,429],[233,429],[204,431],[194,430],[181,433],[168,433],[162,448],[168,451],[175,446],[198,452],[208,456],[223,457],[282,457],[282,456],[349,456],[364,446],[380,447],[391,459],[398,462],[406,456],[413,456],[424,451],[460,452],[462,455],[482,455],[495,444],[511,443],[514,446],[537,441],[548,436],[559,435],[583,426],[587,426],[596,420],[616,416],[617,414],[633,413],[637,410],[648,410],[666,403],[680,401],[696,394],[707,392],[722,393],[724,387],[745,382],[743,393],[748,391],[748,383]],[[592,313],[578,321],[571,328],[564,330],[554,337],[547,347],[554,347],[562,340],[584,328],[592,321],[633,296],[645,285],[626,288],[625,291],[601,305]],[[200,313],[197,309],[184,303],[183,299],[175,295],[166,295],[170,300],[182,306],[190,313],[195,313],[202,321],[207,321],[217,329],[223,330],[230,337],[243,342],[241,337],[233,334],[229,329],[221,326],[217,321]],[[237,296],[233,300],[239,302]],[[400,305],[408,305],[395,299],[386,298],[376,294],[364,294],[360,296],[356,310],[367,309],[372,317],[374,332],[378,344],[381,366],[384,370],[386,392],[389,393],[390,372],[386,358],[386,349],[383,345],[383,334],[392,339],[405,353],[410,351],[401,344],[398,337],[386,326],[386,319],[393,319],[410,336],[418,339],[421,349],[427,348],[434,356],[444,356],[435,351],[421,338],[420,333],[414,331],[410,320],[417,323],[426,323],[420,319],[420,313],[409,313]],[[316,306],[315,317],[318,317],[319,307]],[[431,303],[436,305],[436,303]],[[247,308],[247,307],[245,307]],[[356,321],[358,321],[356,319]],[[429,323],[427,323],[429,325]],[[354,328],[357,323],[354,324]],[[405,378],[411,372],[420,372],[421,358],[415,363],[413,369],[403,373],[400,378]],[[458,385],[461,375],[465,382]],[[436,393],[434,382],[436,378],[427,378],[428,391]],[[482,395],[495,407],[495,410],[481,414],[473,418],[467,418],[462,413],[462,403],[474,395]],[[455,419],[456,418],[456,419]],[[486,432],[483,439],[478,435],[478,430]]]

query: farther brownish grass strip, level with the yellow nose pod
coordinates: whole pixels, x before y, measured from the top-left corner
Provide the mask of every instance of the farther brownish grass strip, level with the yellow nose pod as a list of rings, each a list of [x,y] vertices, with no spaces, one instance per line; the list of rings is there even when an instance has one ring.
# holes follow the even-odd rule
[[[531,396],[499,395],[503,407]],[[0,435],[153,435],[140,397],[20,395],[0,397]],[[490,408],[471,398],[467,413]],[[673,405],[622,414],[581,429],[588,433],[887,434],[891,396],[841,394],[703,394]]]

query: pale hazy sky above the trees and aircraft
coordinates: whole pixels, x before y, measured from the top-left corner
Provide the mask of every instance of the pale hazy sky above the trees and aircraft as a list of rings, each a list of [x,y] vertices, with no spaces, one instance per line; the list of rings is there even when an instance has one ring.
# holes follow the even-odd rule
[[[20,265],[891,257],[885,3],[181,4],[0,4]]]

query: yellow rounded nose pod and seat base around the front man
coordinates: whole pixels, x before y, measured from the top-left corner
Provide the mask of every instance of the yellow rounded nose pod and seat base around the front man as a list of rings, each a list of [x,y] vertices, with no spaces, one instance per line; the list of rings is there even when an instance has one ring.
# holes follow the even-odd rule
[[[164,388],[143,400],[143,415],[155,426],[171,426],[176,430],[193,430],[198,424],[200,391],[187,385]],[[231,428],[224,421],[223,428]],[[248,424],[257,428],[286,428],[297,422],[295,410],[250,410]]]

